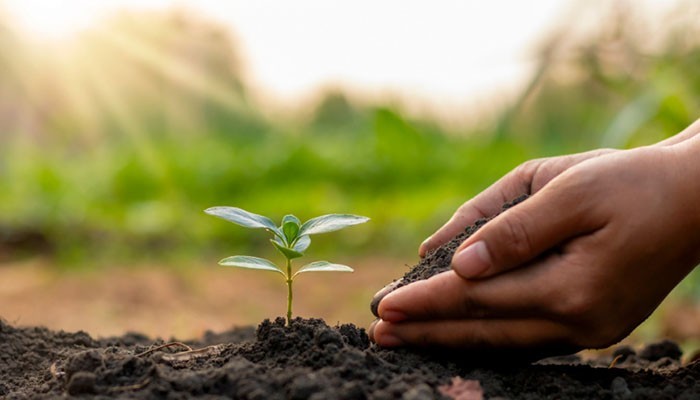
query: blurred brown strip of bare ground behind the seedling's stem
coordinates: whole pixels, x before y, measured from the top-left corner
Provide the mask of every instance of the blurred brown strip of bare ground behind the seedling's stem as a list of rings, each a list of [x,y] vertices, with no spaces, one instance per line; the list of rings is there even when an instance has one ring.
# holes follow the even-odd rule
[[[193,339],[206,330],[257,325],[286,312],[286,286],[278,274],[225,268],[217,260],[179,268],[141,263],[82,270],[61,270],[42,260],[0,264],[0,318],[93,337],[136,331]],[[369,299],[409,268],[396,259],[333,260],[355,272],[300,276],[294,282],[295,315],[368,326]]]

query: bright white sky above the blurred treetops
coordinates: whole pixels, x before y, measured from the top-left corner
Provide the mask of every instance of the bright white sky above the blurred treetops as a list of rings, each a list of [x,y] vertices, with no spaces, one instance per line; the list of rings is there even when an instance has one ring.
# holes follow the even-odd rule
[[[115,9],[193,9],[235,33],[252,84],[292,101],[340,85],[399,94],[430,111],[522,85],[532,47],[583,0],[5,0],[26,31],[73,33]],[[589,0],[585,5],[595,4]],[[639,0],[662,7],[673,0]],[[3,4],[0,0],[0,4]],[[575,21],[572,21],[575,23]],[[487,94],[489,96],[487,96]]]

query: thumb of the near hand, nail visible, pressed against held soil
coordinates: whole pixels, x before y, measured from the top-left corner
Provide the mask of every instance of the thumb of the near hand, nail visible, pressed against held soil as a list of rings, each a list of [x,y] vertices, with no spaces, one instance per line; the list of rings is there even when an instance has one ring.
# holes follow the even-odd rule
[[[556,192],[543,189],[489,221],[457,249],[452,269],[465,279],[496,275],[600,226],[580,197]]]

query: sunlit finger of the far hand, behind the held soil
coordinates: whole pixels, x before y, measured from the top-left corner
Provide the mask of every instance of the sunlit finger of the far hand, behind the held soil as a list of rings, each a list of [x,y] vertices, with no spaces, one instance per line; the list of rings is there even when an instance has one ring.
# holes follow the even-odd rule
[[[425,257],[430,250],[447,243],[476,220],[497,214],[505,202],[522,194],[529,194],[526,191],[528,184],[517,179],[516,176],[515,172],[508,173],[476,197],[460,206],[440,229],[421,243],[418,254],[421,257]]]

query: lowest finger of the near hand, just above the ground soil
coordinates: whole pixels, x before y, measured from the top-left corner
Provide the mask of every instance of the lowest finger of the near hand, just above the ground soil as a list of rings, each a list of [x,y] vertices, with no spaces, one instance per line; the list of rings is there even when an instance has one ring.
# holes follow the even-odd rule
[[[383,347],[455,349],[569,348],[571,331],[546,319],[467,319],[374,324],[372,338]]]

